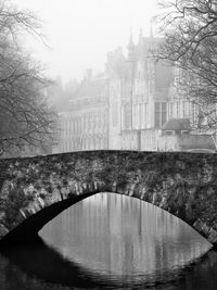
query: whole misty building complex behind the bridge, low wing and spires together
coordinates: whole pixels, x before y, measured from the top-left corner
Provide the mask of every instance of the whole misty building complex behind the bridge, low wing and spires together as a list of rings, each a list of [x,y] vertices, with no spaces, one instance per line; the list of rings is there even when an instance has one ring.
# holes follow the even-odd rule
[[[87,72],[71,108],[60,113],[54,152],[215,150],[210,135],[194,130],[202,121],[199,108],[175,89],[182,72],[154,60],[161,41],[140,31],[137,45],[130,36],[127,55],[120,47],[107,53],[103,75]]]

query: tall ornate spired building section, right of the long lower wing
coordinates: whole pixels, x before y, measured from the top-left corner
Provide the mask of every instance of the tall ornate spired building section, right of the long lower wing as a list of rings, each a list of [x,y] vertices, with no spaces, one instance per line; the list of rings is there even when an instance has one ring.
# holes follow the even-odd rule
[[[153,58],[161,41],[140,31],[137,45],[130,36],[127,56],[120,49],[108,54],[110,148],[214,152],[215,139],[195,131],[201,122],[199,106],[176,89],[182,72]],[[174,130],[171,137],[164,130],[166,123],[181,119],[189,123],[187,131]]]

